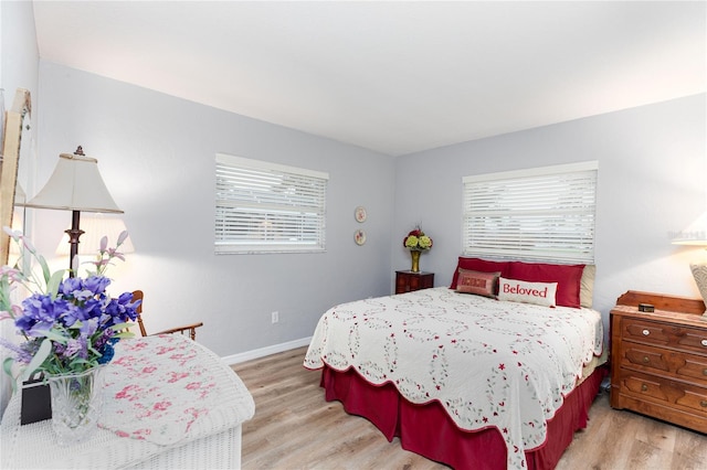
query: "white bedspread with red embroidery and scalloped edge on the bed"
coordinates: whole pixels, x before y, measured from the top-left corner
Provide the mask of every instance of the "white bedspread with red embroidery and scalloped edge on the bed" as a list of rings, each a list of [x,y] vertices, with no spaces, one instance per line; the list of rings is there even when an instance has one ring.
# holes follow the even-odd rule
[[[508,468],[526,468],[547,420],[602,352],[601,314],[458,293],[446,287],[334,307],[304,365],[354,367],[408,400],[439,400],[462,429],[496,427]]]

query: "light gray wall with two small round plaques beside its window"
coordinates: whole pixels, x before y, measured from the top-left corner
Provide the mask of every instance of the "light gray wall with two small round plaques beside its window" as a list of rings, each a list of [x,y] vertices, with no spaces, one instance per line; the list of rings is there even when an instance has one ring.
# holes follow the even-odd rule
[[[231,355],[307,338],[333,305],[390,292],[391,157],[43,61],[40,79],[38,181],[77,145],[98,159],[136,248],[112,288],[146,292],[148,330],[200,320],[199,341]],[[328,172],[326,253],[214,255],[217,152]],[[35,244],[53,253],[70,214],[34,212]]]

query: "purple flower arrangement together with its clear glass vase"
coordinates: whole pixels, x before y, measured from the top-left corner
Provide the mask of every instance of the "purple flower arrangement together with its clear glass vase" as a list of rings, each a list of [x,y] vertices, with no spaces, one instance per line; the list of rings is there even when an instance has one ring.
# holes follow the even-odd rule
[[[43,372],[52,391],[52,426],[60,442],[80,441],[101,413],[102,365],[113,359],[119,339],[133,337],[127,328],[137,318],[139,302],[133,302],[131,292],[113,298],[106,291],[110,279],[105,270],[114,258],[125,259],[118,247],[128,234],[118,236],[115,248],[108,248],[103,237],[85,278],[64,278],[66,270],[52,274],[27,237],[4,229],[21,255],[14,266],[0,267],[0,319],[13,321],[24,342],[0,340],[14,353],[4,360],[3,370],[22,382]],[[18,305],[12,297],[21,288],[31,293]],[[14,364],[20,373],[13,374]]]

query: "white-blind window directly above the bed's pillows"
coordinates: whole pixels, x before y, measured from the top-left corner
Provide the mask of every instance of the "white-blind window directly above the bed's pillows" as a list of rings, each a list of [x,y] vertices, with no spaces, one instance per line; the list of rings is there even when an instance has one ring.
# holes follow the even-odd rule
[[[598,164],[465,177],[465,255],[594,263]]]

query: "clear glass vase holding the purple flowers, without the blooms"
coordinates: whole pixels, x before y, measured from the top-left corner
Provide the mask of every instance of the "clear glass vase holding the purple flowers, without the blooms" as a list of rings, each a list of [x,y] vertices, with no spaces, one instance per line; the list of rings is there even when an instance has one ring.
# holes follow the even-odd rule
[[[52,428],[61,446],[86,440],[96,429],[103,408],[105,366],[77,374],[52,375]]]

